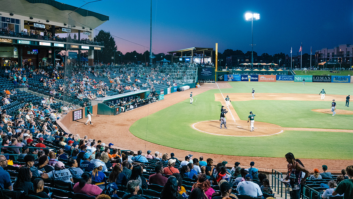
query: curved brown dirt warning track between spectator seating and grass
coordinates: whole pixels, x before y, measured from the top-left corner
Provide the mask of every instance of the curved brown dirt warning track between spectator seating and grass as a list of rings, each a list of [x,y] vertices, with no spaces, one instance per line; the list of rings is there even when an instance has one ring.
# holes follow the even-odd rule
[[[218,82],[217,82],[218,83]],[[193,154],[194,157],[198,158],[204,156],[205,159],[212,158],[214,162],[222,162],[223,160],[228,161],[228,163],[233,164],[234,162],[240,162],[241,165],[249,165],[251,161],[256,162],[258,168],[277,168],[284,169],[287,168],[287,162],[284,158],[268,158],[268,157],[247,157],[247,156],[226,156],[219,154],[208,154],[208,153],[199,153],[192,151],[185,151],[176,148],[166,147],[152,142],[145,141],[134,136],[130,133],[130,126],[137,120],[165,109],[171,105],[177,104],[181,101],[190,98],[190,92],[193,92],[194,99],[197,98],[197,95],[203,93],[210,89],[218,89],[215,83],[203,83],[201,88],[192,88],[184,92],[175,92],[168,95],[164,95],[164,100],[152,103],[146,106],[139,107],[137,109],[121,113],[116,116],[109,115],[100,115],[100,117],[92,117],[93,125],[85,125],[86,118],[80,119],[74,122],[63,123],[67,129],[72,133],[78,133],[81,137],[88,135],[91,139],[101,140],[102,142],[109,144],[112,142],[113,147],[116,148],[126,148],[134,151],[135,153],[138,150],[142,150],[145,154],[147,150],[159,151],[160,153],[175,153],[175,156],[183,160],[187,154]],[[222,88],[232,88],[228,82],[218,83],[220,89]],[[95,113],[94,113],[95,114]],[[72,120],[72,119],[71,119]],[[226,130],[226,129],[223,129]],[[225,146],[226,147],[226,146]],[[217,153],[217,150],[215,150]],[[317,165],[325,164],[329,169],[341,170],[346,168],[347,165],[352,165],[352,160],[335,160],[335,159],[301,159],[305,162],[306,168],[317,168]],[[228,164],[229,166],[232,166]],[[227,165],[227,166],[228,166]]]

